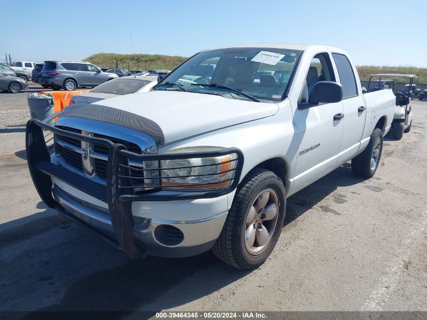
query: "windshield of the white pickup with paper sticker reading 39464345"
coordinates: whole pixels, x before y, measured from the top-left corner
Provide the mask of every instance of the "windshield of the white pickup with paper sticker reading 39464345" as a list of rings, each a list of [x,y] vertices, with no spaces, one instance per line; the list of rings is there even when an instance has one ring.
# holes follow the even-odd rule
[[[250,99],[250,95],[264,102],[281,101],[285,98],[301,53],[298,50],[273,48],[204,51],[176,68],[155,89],[180,90],[172,85],[178,83],[188,92],[220,94],[226,98],[245,100]]]

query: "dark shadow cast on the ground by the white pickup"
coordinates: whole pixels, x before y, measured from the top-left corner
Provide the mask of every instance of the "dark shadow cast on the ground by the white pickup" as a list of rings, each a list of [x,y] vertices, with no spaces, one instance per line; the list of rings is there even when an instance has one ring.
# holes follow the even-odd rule
[[[334,192],[357,184],[348,165],[288,199],[286,226]],[[44,208],[43,204],[38,205]],[[124,311],[178,307],[251,271],[211,252],[183,259],[128,259],[51,209],[0,225],[0,310]],[[49,214],[48,214],[49,213]],[[7,258],[6,258],[7,257]],[[61,297],[53,298],[53,297]],[[19,306],[19,307],[17,307]],[[152,315],[155,313],[153,312]],[[29,313],[42,318],[44,312]],[[122,313],[109,318],[122,318]],[[146,316],[146,315],[144,315]]]

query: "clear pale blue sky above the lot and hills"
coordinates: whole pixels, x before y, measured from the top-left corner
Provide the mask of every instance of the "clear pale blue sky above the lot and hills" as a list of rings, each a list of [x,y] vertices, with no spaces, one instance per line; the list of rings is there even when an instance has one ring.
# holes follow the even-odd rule
[[[0,62],[96,53],[189,57],[254,42],[326,44],[357,65],[427,67],[427,18],[410,1],[0,0]],[[420,12],[423,11],[423,12]],[[8,31],[6,31],[8,30]],[[132,42],[130,33],[132,33]]]

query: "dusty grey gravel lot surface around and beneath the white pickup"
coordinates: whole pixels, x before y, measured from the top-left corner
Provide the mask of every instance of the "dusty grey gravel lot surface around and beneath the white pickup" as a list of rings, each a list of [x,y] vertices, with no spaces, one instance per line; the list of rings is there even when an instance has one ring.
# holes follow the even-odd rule
[[[26,94],[11,96],[0,94],[0,311],[427,311],[427,102],[412,103],[401,141],[386,137],[373,178],[346,164],[290,197],[271,257],[240,271],[210,252],[130,260],[46,208],[25,161]]]

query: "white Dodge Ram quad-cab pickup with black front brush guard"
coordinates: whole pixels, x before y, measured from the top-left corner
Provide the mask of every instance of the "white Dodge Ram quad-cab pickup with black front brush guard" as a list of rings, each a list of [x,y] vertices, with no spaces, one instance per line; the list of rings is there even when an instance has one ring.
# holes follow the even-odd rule
[[[27,159],[46,205],[130,257],[213,249],[249,269],[276,245],[287,197],[349,160],[374,175],[394,109],[391,90],[362,94],[343,50],[238,45],[198,53],[151,92],[30,120]]]

